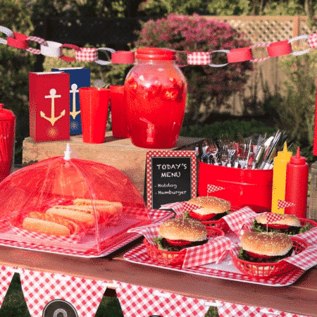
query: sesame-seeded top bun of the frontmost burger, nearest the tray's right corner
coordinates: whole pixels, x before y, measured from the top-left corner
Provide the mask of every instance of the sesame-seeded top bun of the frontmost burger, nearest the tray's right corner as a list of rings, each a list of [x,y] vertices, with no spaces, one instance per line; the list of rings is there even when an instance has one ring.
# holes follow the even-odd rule
[[[266,256],[283,256],[293,246],[293,242],[285,233],[246,231],[241,237],[241,245],[245,251]]]

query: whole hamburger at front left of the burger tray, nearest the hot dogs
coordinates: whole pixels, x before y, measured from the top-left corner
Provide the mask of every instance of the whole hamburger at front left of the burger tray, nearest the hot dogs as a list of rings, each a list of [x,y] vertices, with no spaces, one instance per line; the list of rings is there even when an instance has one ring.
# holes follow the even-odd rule
[[[159,227],[154,239],[159,249],[180,251],[208,242],[207,230],[199,221],[190,218],[172,218]]]

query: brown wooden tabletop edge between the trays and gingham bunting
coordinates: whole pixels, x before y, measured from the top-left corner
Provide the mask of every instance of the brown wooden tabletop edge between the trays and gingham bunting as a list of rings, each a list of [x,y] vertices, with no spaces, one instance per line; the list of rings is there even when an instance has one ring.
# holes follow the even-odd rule
[[[270,287],[139,265],[125,261],[122,255],[116,254],[112,259],[110,257],[86,259],[0,246],[0,263],[5,266],[66,273],[96,280],[120,280],[187,297],[218,299],[317,316],[315,268],[304,273],[293,285]]]

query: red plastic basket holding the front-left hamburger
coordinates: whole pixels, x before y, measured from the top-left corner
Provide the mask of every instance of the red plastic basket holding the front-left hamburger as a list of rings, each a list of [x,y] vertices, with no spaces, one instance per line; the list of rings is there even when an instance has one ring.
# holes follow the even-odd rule
[[[218,228],[209,228],[207,230],[208,238],[224,236],[225,232]],[[166,251],[158,249],[156,246],[149,244],[147,239],[144,238],[143,243],[147,247],[147,254],[155,261],[165,264],[167,266],[181,266],[185,259],[186,250],[181,251]]]

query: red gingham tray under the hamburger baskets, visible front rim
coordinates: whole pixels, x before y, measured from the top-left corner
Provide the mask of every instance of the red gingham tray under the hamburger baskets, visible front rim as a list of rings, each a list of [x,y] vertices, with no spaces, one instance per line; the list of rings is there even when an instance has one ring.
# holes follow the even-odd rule
[[[294,268],[292,271],[279,276],[273,276],[266,280],[251,278],[248,275],[244,275],[235,268],[230,256],[218,263],[209,264],[205,266],[195,266],[193,268],[181,268],[180,266],[167,266],[164,264],[158,264],[155,260],[151,259],[147,254],[147,248],[144,244],[131,249],[124,254],[126,261],[143,264],[145,266],[153,266],[156,268],[166,268],[171,271],[191,273],[194,275],[203,275],[211,278],[220,278],[224,280],[236,280],[240,282],[247,282],[259,285],[268,285],[273,287],[292,285],[298,278],[305,272],[299,268]]]

